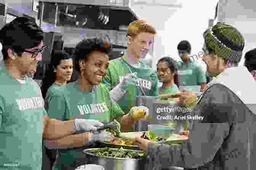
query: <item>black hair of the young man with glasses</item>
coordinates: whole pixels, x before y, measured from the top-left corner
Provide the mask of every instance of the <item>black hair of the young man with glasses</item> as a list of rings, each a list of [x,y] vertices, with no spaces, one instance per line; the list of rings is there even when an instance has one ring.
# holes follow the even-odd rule
[[[17,17],[0,30],[3,59],[7,59],[8,49],[12,49],[18,55],[22,55],[24,49],[38,46],[43,38],[44,32],[34,20],[27,17]],[[26,41],[25,43],[24,40]]]

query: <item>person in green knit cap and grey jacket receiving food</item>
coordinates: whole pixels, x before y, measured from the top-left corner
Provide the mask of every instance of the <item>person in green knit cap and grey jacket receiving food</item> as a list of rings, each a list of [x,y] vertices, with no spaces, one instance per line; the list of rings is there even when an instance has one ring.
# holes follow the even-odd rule
[[[216,78],[207,85],[191,116],[189,140],[182,146],[156,145],[136,137],[146,151],[147,170],[171,166],[197,170],[252,170],[256,114],[256,82],[245,66],[239,66],[245,40],[233,26],[218,23],[204,33],[207,71]],[[181,92],[183,99],[195,96]]]

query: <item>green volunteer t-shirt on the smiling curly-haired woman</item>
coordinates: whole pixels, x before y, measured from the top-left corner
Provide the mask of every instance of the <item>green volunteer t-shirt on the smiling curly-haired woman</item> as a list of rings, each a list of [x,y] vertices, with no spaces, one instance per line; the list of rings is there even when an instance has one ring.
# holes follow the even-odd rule
[[[109,90],[104,84],[94,86],[90,92],[80,91],[78,81],[61,87],[51,97],[48,109],[50,118],[62,121],[82,118],[109,122],[112,118],[123,115],[122,109],[110,102]],[[61,169],[61,164],[73,164],[81,159],[81,154],[81,151],[76,150],[61,152],[56,168]]]

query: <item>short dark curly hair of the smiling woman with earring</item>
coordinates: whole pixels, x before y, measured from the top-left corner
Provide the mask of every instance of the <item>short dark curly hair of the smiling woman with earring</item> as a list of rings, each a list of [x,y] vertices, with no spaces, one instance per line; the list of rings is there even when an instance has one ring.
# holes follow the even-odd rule
[[[79,61],[86,61],[88,55],[93,51],[104,52],[109,54],[112,50],[112,47],[109,42],[105,41],[103,38],[87,38],[80,41],[75,47],[74,52],[74,61],[75,61],[75,70],[80,72]]]

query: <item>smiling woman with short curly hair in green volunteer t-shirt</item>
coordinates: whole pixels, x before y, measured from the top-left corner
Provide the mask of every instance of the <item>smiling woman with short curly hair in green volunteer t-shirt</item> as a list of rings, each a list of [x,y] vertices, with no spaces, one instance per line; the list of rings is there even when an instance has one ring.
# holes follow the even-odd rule
[[[118,104],[111,102],[107,87],[101,84],[109,66],[110,50],[110,44],[101,38],[84,39],[77,44],[74,68],[80,73],[79,78],[60,88],[52,96],[48,109],[50,118],[59,120],[83,118],[110,122],[121,116],[120,123],[127,129],[133,127],[135,121],[146,117],[145,114],[134,112],[134,109],[145,109],[148,113],[146,107],[133,107],[127,115],[124,115]],[[55,169],[74,170],[86,164],[83,149],[95,148],[97,142],[112,139],[113,136],[105,132],[86,132],[50,141],[48,144],[53,148],[61,146]],[[68,149],[62,147],[67,145],[70,146]]]

